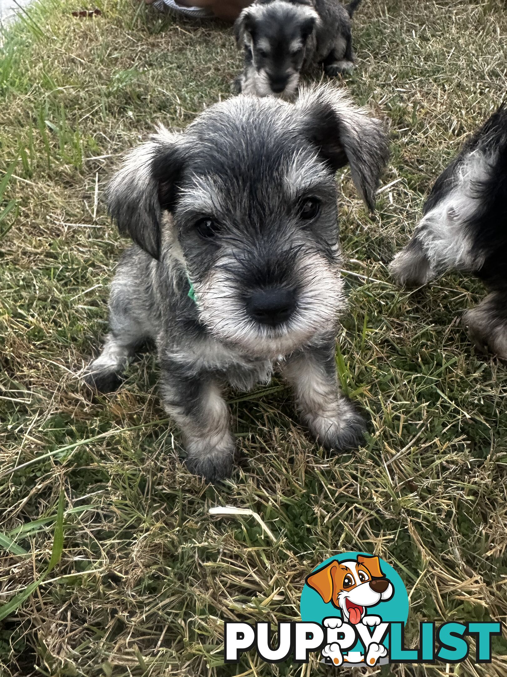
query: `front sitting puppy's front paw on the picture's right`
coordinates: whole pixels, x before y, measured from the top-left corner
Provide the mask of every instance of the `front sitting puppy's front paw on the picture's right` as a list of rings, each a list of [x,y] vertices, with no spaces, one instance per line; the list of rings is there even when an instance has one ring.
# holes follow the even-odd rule
[[[313,416],[311,420],[307,418],[307,423],[316,440],[328,451],[357,449],[364,443],[366,423],[347,399],[341,399],[335,416]]]

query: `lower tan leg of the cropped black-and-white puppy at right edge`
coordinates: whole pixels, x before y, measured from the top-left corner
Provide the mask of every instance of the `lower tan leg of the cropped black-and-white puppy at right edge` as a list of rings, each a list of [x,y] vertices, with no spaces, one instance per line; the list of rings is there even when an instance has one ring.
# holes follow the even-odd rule
[[[507,290],[491,292],[467,310],[463,324],[478,351],[507,360]]]

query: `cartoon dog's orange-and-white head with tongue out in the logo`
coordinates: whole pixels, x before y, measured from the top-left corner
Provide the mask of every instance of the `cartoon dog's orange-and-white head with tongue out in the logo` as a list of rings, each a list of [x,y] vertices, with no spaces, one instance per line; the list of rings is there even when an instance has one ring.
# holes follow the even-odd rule
[[[360,623],[368,607],[390,599],[394,589],[383,574],[378,557],[359,555],[357,561],[331,562],[306,579],[324,602],[331,602],[343,619]]]

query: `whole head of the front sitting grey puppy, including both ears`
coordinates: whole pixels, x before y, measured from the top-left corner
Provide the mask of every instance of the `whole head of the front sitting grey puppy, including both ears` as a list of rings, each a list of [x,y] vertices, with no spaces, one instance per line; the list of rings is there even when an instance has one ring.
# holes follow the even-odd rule
[[[386,152],[377,121],[337,91],[297,105],[240,96],[130,154],[110,211],[160,265],[185,269],[216,339],[277,357],[342,306],[337,167],[351,162],[372,204]]]

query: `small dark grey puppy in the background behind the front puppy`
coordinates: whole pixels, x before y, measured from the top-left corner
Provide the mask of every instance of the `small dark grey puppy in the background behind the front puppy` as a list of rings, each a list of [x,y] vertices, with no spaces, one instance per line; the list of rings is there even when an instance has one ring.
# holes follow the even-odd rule
[[[256,0],[243,9],[234,25],[245,50],[238,91],[289,99],[314,62],[331,77],[352,69],[351,18],[360,1],[344,7],[337,0]]]

